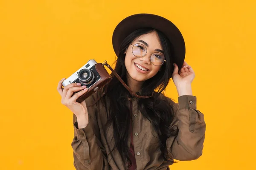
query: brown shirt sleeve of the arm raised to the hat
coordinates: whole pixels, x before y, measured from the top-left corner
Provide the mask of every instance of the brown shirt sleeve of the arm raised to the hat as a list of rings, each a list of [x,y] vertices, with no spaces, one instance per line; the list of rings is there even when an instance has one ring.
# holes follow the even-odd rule
[[[189,161],[202,155],[205,137],[204,114],[197,110],[196,96],[179,96],[174,105],[175,116],[171,129],[177,129],[177,136],[166,141],[167,150],[173,159]]]

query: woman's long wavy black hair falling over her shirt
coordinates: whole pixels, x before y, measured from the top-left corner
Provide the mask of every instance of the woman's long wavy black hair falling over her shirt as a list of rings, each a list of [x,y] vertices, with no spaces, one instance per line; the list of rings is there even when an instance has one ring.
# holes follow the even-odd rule
[[[116,60],[115,71],[127,83],[127,71],[125,68],[125,51],[128,46],[137,37],[143,34],[148,34],[156,31],[161,46],[163,48],[166,60],[171,60],[172,46],[168,38],[160,31],[152,28],[142,28],[134,31],[122,42],[119,54]],[[166,161],[174,162],[172,159],[168,159],[165,156],[166,150],[166,139],[169,136],[174,136],[177,134],[177,130],[169,129],[169,125],[173,120],[173,109],[166,100],[159,99],[159,95],[164,91],[169,83],[169,77],[172,73],[172,67],[170,65],[172,62],[165,62],[160,71],[151,79],[146,80],[143,83],[140,95],[154,95],[147,99],[139,99],[139,109],[143,116],[145,116],[153,125],[160,139],[162,156]],[[111,82],[109,82],[106,87],[106,97],[110,101],[110,109],[108,111],[108,125],[113,125],[113,138],[115,141],[114,148],[119,151],[122,160],[131,165],[131,160],[129,159],[129,147],[128,136],[130,128],[130,108],[127,104],[127,96],[130,96],[125,87],[119,82],[119,80],[113,76]],[[114,149],[113,148],[113,149]],[[112,151],[113,151],[112,149]],[[169,155],[169,154],[167,154]]]

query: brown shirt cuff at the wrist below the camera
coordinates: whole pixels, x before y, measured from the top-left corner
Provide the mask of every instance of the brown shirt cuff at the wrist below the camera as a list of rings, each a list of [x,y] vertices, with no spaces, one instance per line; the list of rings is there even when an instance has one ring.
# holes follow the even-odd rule
[[[93,128],[90,125],[90,122],[87,124],[86,127],[79,129],[77,122],[74,123],[75,135],[79,140],[81,139],[89,139],[94,136]]]

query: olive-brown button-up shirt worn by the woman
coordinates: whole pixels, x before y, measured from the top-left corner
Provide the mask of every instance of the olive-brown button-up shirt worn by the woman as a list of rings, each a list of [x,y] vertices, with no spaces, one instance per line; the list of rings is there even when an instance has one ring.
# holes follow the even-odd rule
[[[178,128],[177,136],[171,136],[166,141],[166,148],[171,157],[180,160],[198,159],[202,155],[205,122],[204,115],[196,108],[196,96],[179,96],[178,103],[161,95],[173,106],[175,118],[170,127]],[[89,114],[87,127],[78,129],[76,116],[73,115],[74,166],[76,170],[127,170],[119,152],[113,148],[113,127],[107,127],[107,110],[110,107],[102,105],[99,92],[86,99]],[[161,156],[157,132],[148,119],[138,108],[137,98],[132,98],[132,133],[134,154],[137,170],[169,170],[169,165]],[[108,101],[108,100],[106,100]],[[93,104],[92,106],[90,106]],[[130,102],[127,103],[128,105]],[[131,136],[128,137],[130,148]]]

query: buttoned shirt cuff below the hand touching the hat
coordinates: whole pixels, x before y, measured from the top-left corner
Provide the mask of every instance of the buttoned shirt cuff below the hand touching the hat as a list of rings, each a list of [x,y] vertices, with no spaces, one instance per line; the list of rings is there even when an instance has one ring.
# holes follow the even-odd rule
[[[183,95],[178,97],[180,109],[194,109],[196,110],[196,96]]]

